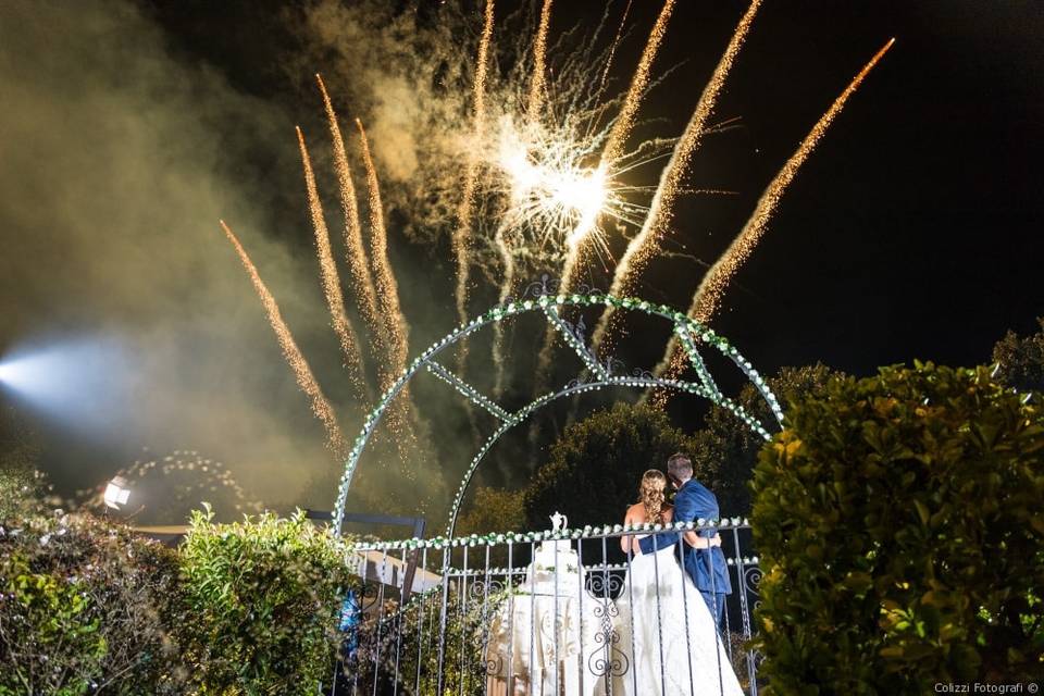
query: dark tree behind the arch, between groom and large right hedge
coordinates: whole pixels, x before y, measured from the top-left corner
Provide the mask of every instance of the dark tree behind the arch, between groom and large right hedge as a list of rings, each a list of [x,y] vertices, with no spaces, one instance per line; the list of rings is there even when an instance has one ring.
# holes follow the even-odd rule
[[[769,387],[779,398],[784,412],[786,405],[806,395],[822,394],[826,381],[835,372],[821,364],[804,368],[783,368],[769,378]],[[753,384],[744,385],[736,399],[762,423],[775,423],[761,394]],[[760,435],[729,409],[712,405],[704,419],[704,426],[693,434],[695,477],[714,492],[722,514],[750,513],[750,480],[758,452],[765,445]]]

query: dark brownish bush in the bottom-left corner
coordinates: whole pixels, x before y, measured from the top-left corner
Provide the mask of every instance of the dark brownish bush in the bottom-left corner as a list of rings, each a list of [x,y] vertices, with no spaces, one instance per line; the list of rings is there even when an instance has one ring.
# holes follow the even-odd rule
[[[0,694],[182,693],[173,551],[89,515],[0,534]]]

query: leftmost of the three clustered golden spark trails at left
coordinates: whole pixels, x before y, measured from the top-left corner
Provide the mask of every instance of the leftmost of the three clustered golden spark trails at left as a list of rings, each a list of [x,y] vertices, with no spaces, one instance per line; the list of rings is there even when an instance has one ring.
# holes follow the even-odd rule
[[[304,167],[304,188],[308,191],[308,209],[312,215],[312,228],[315,231],[315,252],[319,257],[320,276],[323,284],[323,294],[326,296],[326,304],[330,307],[330,314],[333,319],[334,333],[340,341],[340,350],[345,358],[345,369],[348,371],[348,378],[358,389],[360,399],[368,397],[368,385],[365,369],[362,364],[362,356],[359,353],[359,339],[356,332],[348,321],[348,314],[345,312],[345,300],[340,294],[340,278],[337,276],[337,265],[334,263],[334,254],[330,247],[330,231],[326,228],[326,220],[323,215],[323,206],[319,200],[319,189],[315,186],[315,174],[312,172],[312,162],[308,156],[308,147],[304,145],[304,134],[298,127],[297,142],[301,149],[301,164]]]

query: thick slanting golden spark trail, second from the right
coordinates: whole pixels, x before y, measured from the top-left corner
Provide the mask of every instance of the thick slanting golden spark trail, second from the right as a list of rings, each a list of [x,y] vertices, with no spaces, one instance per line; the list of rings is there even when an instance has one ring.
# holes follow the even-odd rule
[[[707,123],[717,105],[718,96],[725,84],[729,71],[732,70],[732,65],[739,54],[744,40],[750,33],[750,26],[760,7],[761,0],[751,0],[746,13],[732,33],[732,38],[729,40],[721,59],[719,59],[714,72],[707,85],[704,86],[704,91],[699,101],[696,102],[696,109],[685,126],[685,132],[674,146],[671,159],[660,176],[660,184],[652,196],[645,224],[642,225],[641,232],[627,244],[626,251],[624,251],[620,263],[617,265],[612,285],[609,289],[610,295],[623,297],[634,291],[638,277],[659,247],[660,237],[668,232],[673,216],[674,201],[683,190],[682,183],[688,170],[688,163],[700,145],[703,135],[707,129]],[[592,344],[595,349],[607,337],[611,336],[610,330],[617,328],[610,325],[614,315],[616,312],[612,311],[612,308],[607,308],[602,312],[592,335]]]

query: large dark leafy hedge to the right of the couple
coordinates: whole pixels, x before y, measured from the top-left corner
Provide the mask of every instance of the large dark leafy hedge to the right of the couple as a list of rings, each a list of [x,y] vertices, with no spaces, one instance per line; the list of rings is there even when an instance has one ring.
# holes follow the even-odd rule
[[[990,371],[832,377],[761,451],[762,674],[782,694],[1044,676],[1044,415]]]

